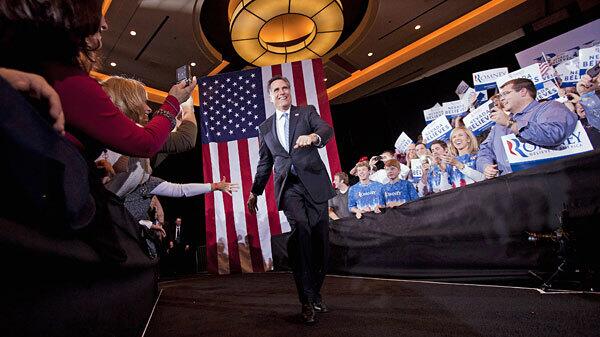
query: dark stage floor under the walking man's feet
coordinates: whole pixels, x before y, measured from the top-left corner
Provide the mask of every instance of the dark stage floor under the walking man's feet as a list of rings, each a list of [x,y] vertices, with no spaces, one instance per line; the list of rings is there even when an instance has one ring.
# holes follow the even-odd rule
[[[300,324],[289,273],[162,282],[145,336],[598,336],[600,294],[328,276],[330,313]]]

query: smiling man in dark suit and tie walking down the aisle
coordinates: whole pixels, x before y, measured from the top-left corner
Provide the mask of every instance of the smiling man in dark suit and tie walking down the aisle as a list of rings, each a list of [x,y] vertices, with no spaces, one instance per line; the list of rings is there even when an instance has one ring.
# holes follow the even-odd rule
[[[315,311],[327,311],[320,290],[329,257],[327,201],[334,191],[318,148],[325,146],[333,130],[314,106],[292,106],[287,78],[273,77],[268,90],[276,112],[259,126],[260,160],[248,208],[253,214],[258,210],[257,195],[262,194],[274,167],[277,207],[292,227],[288,256],[302,319],[312,324]]]

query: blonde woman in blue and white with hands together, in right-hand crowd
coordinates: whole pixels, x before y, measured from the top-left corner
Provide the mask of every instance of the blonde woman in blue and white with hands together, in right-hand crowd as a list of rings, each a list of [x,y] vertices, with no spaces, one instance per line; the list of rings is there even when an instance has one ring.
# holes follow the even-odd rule
[[[450,133],[449,153],[442,155],[442,161],[451,167],[452,188],[466,186],[485,179],[483,173],[475,169],[479,144],[471,130],[464,126],[456,127]]]

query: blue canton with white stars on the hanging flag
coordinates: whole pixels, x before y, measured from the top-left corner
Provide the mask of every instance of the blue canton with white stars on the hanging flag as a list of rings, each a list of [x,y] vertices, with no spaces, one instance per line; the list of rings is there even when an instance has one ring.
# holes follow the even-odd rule
[[[200,79],[202,143],[258,137],[265,120],[260,68]]]

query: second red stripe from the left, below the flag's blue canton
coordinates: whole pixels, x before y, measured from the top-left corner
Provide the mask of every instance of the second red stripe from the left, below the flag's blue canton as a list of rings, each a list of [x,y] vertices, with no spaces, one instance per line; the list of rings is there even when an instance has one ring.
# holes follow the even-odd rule
[[[219,171],[221,177],[224,176],[228,181],[231,181],[227,143],[217,143],[217,146],[219,149]],[[218,179],[220,181],[220,178]],[[227,247],[229,250],[229,272],[241,273],[242,268],[240,266],[237,231],[235,230],[235,220],[233,218],[233,200],[228,194],[221,194],[223,195],[223,208],[225,209],[225,227],[227,229]]]

